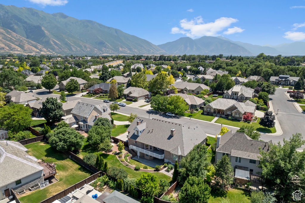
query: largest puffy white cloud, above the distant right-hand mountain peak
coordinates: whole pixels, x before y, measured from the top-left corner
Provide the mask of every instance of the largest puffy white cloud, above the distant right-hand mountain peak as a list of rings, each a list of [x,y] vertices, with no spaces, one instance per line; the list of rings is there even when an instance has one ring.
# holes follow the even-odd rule
[[[221,17],[214,22],[204,23],[201,16],[193,20],[180,20],[180,27],[173,27],[172,34],[185,34],[188,37],[202,37],[202,36],[218,36],[219,32],[229,27],[231,23],[236,23],[238,20],[234,18]],[[232,28],[234,29],[234,28]]]

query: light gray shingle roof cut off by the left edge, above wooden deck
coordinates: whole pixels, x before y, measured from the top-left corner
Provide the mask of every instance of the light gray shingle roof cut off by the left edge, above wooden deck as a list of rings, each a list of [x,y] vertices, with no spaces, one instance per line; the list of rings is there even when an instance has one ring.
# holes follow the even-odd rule
[[[8,143],[8,145],[6,145]],[[26,158],[27,148],[13,141],[0,141],[0,187],[29,176],[42,169],[36,161]],[[12,170],[13,169],[13,170]]]

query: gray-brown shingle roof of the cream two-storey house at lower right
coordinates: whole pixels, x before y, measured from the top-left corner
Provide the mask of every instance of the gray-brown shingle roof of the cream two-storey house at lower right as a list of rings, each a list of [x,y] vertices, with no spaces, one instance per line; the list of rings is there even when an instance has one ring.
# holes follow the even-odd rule
[[[264,142],[252,140],[244,133],[232,133],[230,130],[221,136],[219,147],[216,151],[230,153],[233,156],[258,160],[257,156],[260,156],[258,148],[260,147],[263,151],[268,152],[268,143],[272,143],[272,141]]]

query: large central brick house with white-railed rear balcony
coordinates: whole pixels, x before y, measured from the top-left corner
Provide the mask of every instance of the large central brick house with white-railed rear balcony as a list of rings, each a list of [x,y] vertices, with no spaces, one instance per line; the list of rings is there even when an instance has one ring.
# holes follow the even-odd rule
[[[127,128],[129,149],[145,159],[178,164],[196,144],[205,144],[206,134],[198,124],[185,126],[168,120],[136,117]]]

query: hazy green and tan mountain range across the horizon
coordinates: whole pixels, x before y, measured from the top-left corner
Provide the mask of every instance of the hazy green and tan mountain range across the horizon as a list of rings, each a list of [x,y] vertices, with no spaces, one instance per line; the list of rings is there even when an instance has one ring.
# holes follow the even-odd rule
[[[225,37],[181,37],[162,45],[64,13],[0,4],[0,52],[61,55],[305,55],[305,42],[252,45]]]

